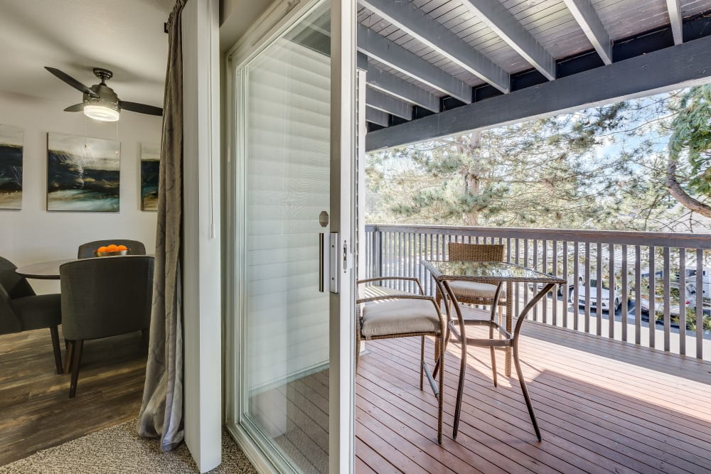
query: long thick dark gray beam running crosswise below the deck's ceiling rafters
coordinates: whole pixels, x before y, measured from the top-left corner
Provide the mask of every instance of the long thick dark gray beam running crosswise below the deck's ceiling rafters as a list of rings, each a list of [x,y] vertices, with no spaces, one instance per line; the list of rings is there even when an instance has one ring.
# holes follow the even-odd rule
[[[371,131],[366,151],[513,124],[708,82],[711,36]]]

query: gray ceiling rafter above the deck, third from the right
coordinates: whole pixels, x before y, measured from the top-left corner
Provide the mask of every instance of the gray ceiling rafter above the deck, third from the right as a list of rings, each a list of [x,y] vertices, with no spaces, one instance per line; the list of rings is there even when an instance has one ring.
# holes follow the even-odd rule
[[[555,79],[555,60],[510,14],[501,0],[461,0],[461,4],[491,28],[503,41],[538,69],[548,80]]]

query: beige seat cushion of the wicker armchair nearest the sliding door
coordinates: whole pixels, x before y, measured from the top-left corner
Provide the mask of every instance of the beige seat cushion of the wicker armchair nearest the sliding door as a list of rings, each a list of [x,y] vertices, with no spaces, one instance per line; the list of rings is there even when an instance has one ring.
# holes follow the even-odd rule
[[[365,339],[406,333],[439,333],[439,315],[432,301],[397,299],[365,303],[361,332]]]

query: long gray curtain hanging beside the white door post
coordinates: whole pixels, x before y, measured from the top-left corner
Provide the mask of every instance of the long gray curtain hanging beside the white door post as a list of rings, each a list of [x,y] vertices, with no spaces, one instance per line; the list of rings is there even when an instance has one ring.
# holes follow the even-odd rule
[[[183,441],[183,328],[181,232],[183,229],[183,52],[177,0],[168,19],[168,69],[163,107],[156,266],[146,385],[137,429],[161,438],[161,451]]]

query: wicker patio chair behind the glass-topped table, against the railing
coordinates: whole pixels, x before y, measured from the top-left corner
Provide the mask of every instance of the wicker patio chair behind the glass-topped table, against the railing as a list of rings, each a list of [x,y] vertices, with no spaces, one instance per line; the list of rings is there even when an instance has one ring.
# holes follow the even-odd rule
[[[448,246],[450,260],[466,260],[469,262],[505,262],[504,250],[503,244],[458,244],[453,242]],[[456,297],[456,301],[459,301],[459,303],[491,305],[496,293],[496,285],[477,283],[475,281],[450,281],[449,286]],[[438,290],[437,306],[440,305],[441,301],[442,294]],[[501,308],[506,308],[506,330],[510,333],[513,329],[513,284],[510,281],[501,289],[501,294],[498,298],[499,324],[502,324]],[[451,311],[448,313],[451,314]],[[464,324],[467,324],[467,318],[464,318]],[[478,323],[474,322],[473,324]],[[447,335],[448,339],[449,335]],[[445,345],[447,345],[447,340],[445,340]],[[493,365],[494,384],[496,384],[496,360],[493,358],[493,352],[491,363]],[[506,377],[511,375],[511,355],[509,350],[506,350],[505,372]]]

